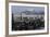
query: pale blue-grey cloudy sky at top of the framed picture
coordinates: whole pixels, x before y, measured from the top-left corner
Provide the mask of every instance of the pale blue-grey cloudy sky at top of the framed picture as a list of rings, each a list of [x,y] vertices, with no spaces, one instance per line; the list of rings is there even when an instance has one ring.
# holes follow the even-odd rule
[[[12,5],[12,12],[15,14],[17,12],[22,12],[22,11],[34,11],[35,12],[40,12],[40,11],[45,11],[43,7],[20,7],[20,5]]]

